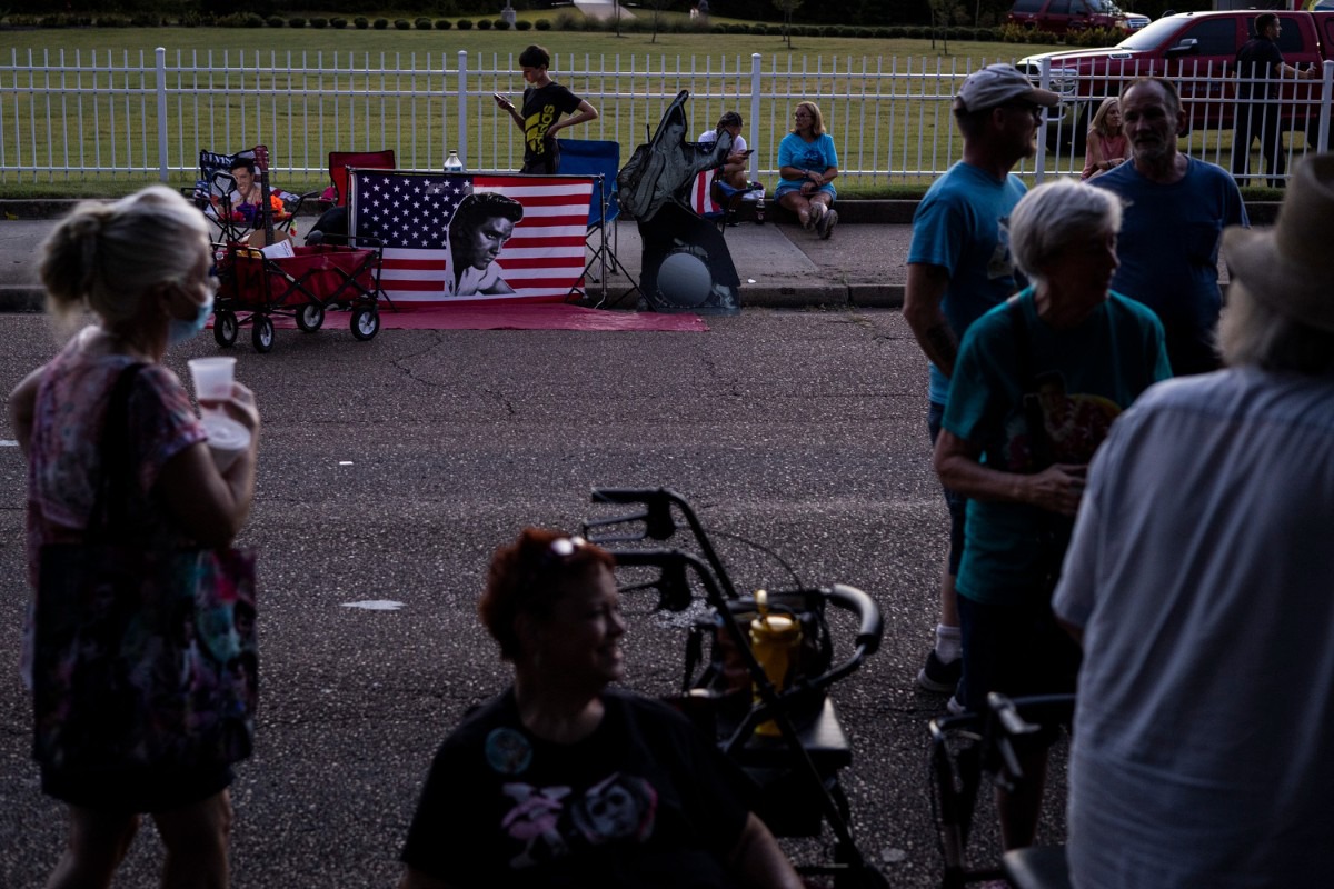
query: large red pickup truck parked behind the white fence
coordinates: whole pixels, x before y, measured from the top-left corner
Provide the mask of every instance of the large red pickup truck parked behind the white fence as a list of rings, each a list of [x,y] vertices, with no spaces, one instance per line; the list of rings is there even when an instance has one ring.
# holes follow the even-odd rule
[[[1115,47],[1049,52],[1021,59],[1021,71],[1038,81],[1043,60],[1051,64],[1051,89],[1062,105],[1047,113],[1050,137],[1083,151],[1098,104],[1147,75],[1173,80],[1181,89],[1193,129],[1230,129],[1237,107],[1237,51],[1251,39],[1259,9],[1182,12],[1165,16]],[[1274,11],[1282,31],[1283,61],[1306,68],[1334,59],[1334,12]],[[1247,72],[1249,76],[1249,72]],[[1286,80],[1281,88],[1283,128],[1305,131],[1315,144],[1319,80]]]

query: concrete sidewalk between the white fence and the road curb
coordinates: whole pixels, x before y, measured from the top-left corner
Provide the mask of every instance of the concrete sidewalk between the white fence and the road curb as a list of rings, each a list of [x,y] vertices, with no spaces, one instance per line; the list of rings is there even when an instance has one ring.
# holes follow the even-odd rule
[[[41,311],[37,248],[55,225],[55,217],[72,204],[0,201],[0,312]],[[764,225],[743,223],[727,229],[727,245],[742,279],[742,305],[898,308],[903,304],[912,203],[843,201],[838,208],[839,225],[827,241],[772,219]],[[21,219],[11,219],[13,215]],[[616,257],[638,280],[639,229],[634,223],[618,221],[612,241]],[[595,281],[588,287],[591,293],[599,292]],[[628,287],[624,275],[608,275],[607,301],[615,303]],[[619,305],[634,308],[634,300]]]

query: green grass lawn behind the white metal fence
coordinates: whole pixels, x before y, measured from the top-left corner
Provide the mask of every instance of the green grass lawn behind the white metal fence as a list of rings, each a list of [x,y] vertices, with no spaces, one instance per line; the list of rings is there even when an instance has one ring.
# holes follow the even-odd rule
[[[526,12],[523,17],[551,17],[550,12]],[[679,16],[678,16],[679,17]],[[668,16],[664,16],[668,19]],[[715,19],[718,21],[718,19]],[[156,108],[152,97],[124,93],[112,99],[99,99],[105,103],[97,113],[96,127],[91,125],[92,108],[84,100],[84,125],[77,125],[75,108],[77,101],[52,93],[32,103],[21,88],[29,84],[19,80],[17,97],[7,95],[5,89],[15,84],[15,75],[5,71],[17,63],[24,65],[73,64],[105,65],[111,59],[121,65],[128,59],[137,65],[143,57],[145,67],[153,65],[153,49],[167,48],[168,65],[177,59],[184,64],[221,65],[225,59],[233,68],[244,52],[245,65],[252,71],[243,75],[228,75],[223,80],[215,76],[201,77],[199,85],[225,87],[227,96],[200,97],[189,95],[193,84],[173,84],[185,92],[175,96],[168,104],[168,132],[171,164],[179,169],[172,172],[173,185],[185,185],[193,180],[188,168],[199,148],[235,151],[255,141],[265,141],[273,149],[275,168],[281,169],[280,183],[291,191],[311,191],[325,184],[324,156],[331,149],[380,148],[398,144],[399,164],[408,168],[438,167],[443,152],[456,145],[451,127],[452,107],[442,120],[442,92],[448,92],[448,84],[434,83],[424,76],[412,76],[412,71],[428,67],[439,69],[442,63],[454,67],[458,52],[468,52],[470,89],[480,89],[482,95],[470,99],[468,153],[476,159],[474,165],[490,169],[512,169],[518,167],[522,143],[512,136],[507,119],[491,112],[486,95],[495,89],[514,95],[522,89],[516,73],[516,56],[528,43],[542,43],[555,56],[554,73],[571,89],[580,95],[598,95],[595,104],[602,111],[603,120],[586,125],[583,132],[572,132],[582,139],[618,139],[623,155],[628,156],[634,144],[642,141],[646,124],[656,124],[662,100],[646,100],[647,92],[671,93],[686,85],[695,92],[692,115],[695,128],[711,124],[724,107],[736,107],[735,96],[743,96],[742,111],[748,112],[748,83],[738,88],[736,69],[750,71],[750,53],[760,53],[763,87],[762,93],[775,96],[766,99],[759,116],[760,141],[756,148],[766,157],[771,145],[786,131],[790,105],[800,97],[819,96],[831,132],[839,140],[840,165],[848,171],[883,169],[886,159],[891,169],[912,169],[915,156],[924,151],[930,157],[932,149],[939,160],[958,155],[959,140],[942,101],[924,103],[920,96],[922,84],[936,69],[966,71],[983,63],[1013,60],[1033,52],[1055,49],[1054,45],[1038,44],[998,44],[951,41],[948,52],[943,43],[934,47],[928,40],[874,40],[842,37],[799,37],[794,39],[788,51],[779,36],[758,35],[712,35],[698,32],[664,32],[656,36],[639,32],[626,32],[618,37],[607,32],[582,31],[398,31],[392,27],[376,29],[334,29],[334,28],[71,28],[71,29],[0,29],[0,151],[8,164],[16,157],[32,163],[33,155],[40,165],[64,165],[64,157],[71,157],[71,165],[79,167],[80,152],[84,157],[99,157],[97,165],[108,165],[109,153],[115,149],[116,165],[133,168],[137,172],[123,173],[3,173],[7,197],[23,196],[101,196],[127,193],[144,183],[156,181]],[[259,53],[256,63],[256,55]],[[295,67],[316,68],[338,65],[346,69],[366,69],[388,67],[404,75],[391,77],[350,77],[336,81],[328,77],[316,79],[292,75],[261,75],[255,68]],[[895,79],[888,91],[879,95],[862,92],[866,79],[847,76],[852,72],[898,72],[908,68],[918,79]],[[634,69],[636,77],[595,79],[578,75],[563,76],[562,68],[579,71]],[[691,77],[663,76],[663,71],[696,72]],[[728,77],[702,77],[702,72],[732,72]],[[658,72],[650,75],[648,72]],[[45,87],[40,79],[36,85]],[[611,81],[608,84],[608,80]],[[83,85],[88,85],[88,80]],[[152,85],[149,73],[144,81],[121,77],[117,88],[137,88],[141,83]],[[906,85],[904,85],[906,84]],[[56,83],[55,85],[60,85]],[[67,85],[75,85],[68,83]],[[105,76],[97,81],[105,85]],[[415,91],[416,97],[400,99],[396,93]],[[288,113],[288,92],[300,96],[312,91],[313,99],[296,99]],[[387,93],[380,97],[376,93]],[[317,95],[316,95],[317,93]],[[339,93],[336,97],[334,93]],[[115,107],[111,103],[115,101]],[[140,103],[145,103],[143,107]],[[943,109],[943,111],[942,111]],[[127,139],[123,132],[125,112],[149,119],[147,132],[136,131]],[[49,140],[32,137],[33,124],[44,132],[45,116],[56,121],[55,136]],[[748,113],[747,113],[748,116]],[[117,120],[117,139],[111,140],[111,120]],[[338,124],[334,125],[335,119]],[[64,121],[69,123],[64,123]],[[216,121],[212,132],[204,132],[207,121]],[[204,121],[204,123],[196,123]],[[244,127],[243,127],[244,121]],[[747,136],[750,135],[747,121]],[[231,127],[231,131],[227,129]],[[221,131],[219,132],[219,129]],[[21,133],[19,133],[21,131]],[[244,131],[247,136],[228,136]],[[252,131],[257,132],[253,135]],[[147,139],[141,136],[147,135]],[[44,144],[51,141],[53,144]],[[16,144],[17,143],[17,144]],[[147,144],[144,144],[147,143]],[[232,144],[236,143],[236,144]],[[129,161],[127,152],[133,156]],[[939,163],[938,160],[938,163]],[[771,168],[774,159],[763,164]],[[911,196],[919,195],[928,177],[903,176],[846,176],[840,180],[840,193],[847,196]]]

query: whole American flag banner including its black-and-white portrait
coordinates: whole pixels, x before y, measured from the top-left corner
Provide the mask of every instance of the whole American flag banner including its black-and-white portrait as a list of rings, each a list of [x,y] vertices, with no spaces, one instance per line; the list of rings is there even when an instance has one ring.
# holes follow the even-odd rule
[[[560,301],[583,273],[590,177],[354,169],[348,181],[351,233],[384,245],[395,304]]]

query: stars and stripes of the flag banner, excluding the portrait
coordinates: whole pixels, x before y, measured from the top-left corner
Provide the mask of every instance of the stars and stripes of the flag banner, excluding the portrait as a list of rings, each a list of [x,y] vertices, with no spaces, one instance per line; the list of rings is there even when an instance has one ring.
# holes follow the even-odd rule
[[[348,232],[384,244],[380,289],[396,305],[460,300],[564,300],[584,269],[591,176],[514,176],[383,169],[348,171]],[[496,192],[523,204],[523,219],[492,265],[514,293],[454,296],[450,221],[464,197]],[[483,273],[495,277],[488,267]]]

